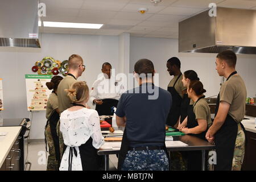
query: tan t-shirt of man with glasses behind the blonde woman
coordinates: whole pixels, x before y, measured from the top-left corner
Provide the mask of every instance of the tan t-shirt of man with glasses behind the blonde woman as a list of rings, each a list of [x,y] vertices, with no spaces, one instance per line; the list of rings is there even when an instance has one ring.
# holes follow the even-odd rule
[[[59,110],[60,110],[60,114],[68,109],[69,107],[71,107],[71,103],[72,101],[70,100],[70,98],[68,97],[68,92],[65,91],[65,89],[69,89],[70,86],[77,82],[77,80],[72,77],[72,76],[66,76],[65,78],[63,78],[63,80],[60,81],[60,84],[58,86],[57,89],[57,96],[58,96],[58,101],[59,101]]]

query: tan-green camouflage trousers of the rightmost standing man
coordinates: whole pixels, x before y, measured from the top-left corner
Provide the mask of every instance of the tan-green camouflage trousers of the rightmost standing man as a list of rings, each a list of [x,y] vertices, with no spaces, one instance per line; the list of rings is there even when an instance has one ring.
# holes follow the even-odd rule
[[[237,139],[234,147],[232,171],[240,171],[245,156],[245,133],[240,123],[238,124]]]

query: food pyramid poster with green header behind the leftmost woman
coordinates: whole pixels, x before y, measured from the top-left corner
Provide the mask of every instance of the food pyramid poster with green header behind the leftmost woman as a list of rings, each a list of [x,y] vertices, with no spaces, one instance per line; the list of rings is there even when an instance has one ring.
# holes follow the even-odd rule
[[[51,81],[52,75],[25,75],[27,90],[27,110],[46,110],[49,90],[46,82]]]

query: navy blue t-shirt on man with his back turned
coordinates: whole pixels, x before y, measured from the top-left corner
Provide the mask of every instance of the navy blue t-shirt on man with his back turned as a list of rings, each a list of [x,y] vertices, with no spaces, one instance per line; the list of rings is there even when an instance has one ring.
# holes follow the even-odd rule
[[[151,83],[122,94],[115,114],[127,118],[126,133],[131,146],[163,146],[171,103],[171,94]]]

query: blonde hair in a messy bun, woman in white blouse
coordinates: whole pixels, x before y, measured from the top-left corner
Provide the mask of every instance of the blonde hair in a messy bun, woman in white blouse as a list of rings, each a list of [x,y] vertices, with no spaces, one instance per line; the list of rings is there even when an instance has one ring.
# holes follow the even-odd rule
[[[71,85],[69,89],[65,89],[68,92],[68,97],[74,103],[79,103],[89,98],[89,88],[85,81],[78,81]]]

